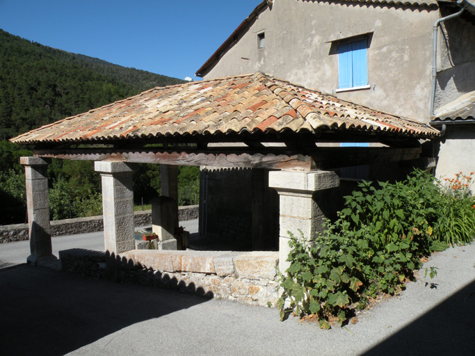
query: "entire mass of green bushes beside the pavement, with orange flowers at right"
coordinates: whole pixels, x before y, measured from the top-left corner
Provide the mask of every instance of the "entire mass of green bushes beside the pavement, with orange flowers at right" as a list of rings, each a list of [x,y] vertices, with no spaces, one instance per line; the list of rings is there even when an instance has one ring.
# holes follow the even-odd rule
[[[397,293],[421,267],[421,257],[475,236],[472,172],[440,181],[421,170],[395,184],[363,181],[346,198],[335,223],[312,241],[291,236],[291,265],[280,274],[283,319],[314,314],[321,327],[344,323],[367,296]],[[290,234],[290,233],[289,233]],[[430,277],[435,267],[431,268]],[[289,305],[286,305],[286,301]]]

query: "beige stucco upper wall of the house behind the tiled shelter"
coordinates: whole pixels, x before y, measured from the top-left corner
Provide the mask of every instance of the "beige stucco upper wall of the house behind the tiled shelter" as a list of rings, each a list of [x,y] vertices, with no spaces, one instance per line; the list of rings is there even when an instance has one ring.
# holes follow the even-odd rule
[[[338,88],[338,54],[331,41],[372,32],[368,82],[374,88],[337,96],[427,122],[432,30],[438,17],[434,7],[274,1],[204,78],[261,71],[332,92]],[[265,31],[264,49],[257,49],[260,31]]]

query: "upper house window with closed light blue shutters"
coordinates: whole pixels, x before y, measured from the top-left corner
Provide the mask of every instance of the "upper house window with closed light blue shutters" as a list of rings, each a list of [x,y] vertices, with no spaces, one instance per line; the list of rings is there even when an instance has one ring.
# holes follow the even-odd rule
[[[366,38],[338,45],[339,89],[368,84],[367,48]]]

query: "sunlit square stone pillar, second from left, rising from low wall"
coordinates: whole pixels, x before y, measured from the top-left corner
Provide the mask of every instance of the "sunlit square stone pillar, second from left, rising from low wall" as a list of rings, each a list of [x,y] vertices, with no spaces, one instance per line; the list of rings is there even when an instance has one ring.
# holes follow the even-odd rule
[[[95,162],[102,178],[102,214],[106,251],[119,254],[135,249],[134,163]]]

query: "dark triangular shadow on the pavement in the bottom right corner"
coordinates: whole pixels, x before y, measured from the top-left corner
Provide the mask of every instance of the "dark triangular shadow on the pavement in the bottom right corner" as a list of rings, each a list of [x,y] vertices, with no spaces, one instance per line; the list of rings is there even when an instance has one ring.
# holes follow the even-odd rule
[[[475,282],[363,355],[475,355]]]

